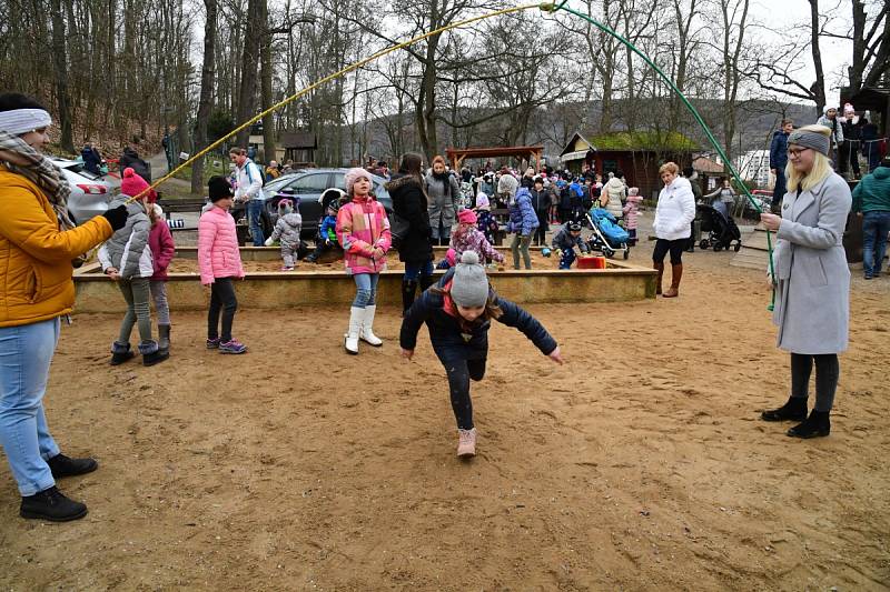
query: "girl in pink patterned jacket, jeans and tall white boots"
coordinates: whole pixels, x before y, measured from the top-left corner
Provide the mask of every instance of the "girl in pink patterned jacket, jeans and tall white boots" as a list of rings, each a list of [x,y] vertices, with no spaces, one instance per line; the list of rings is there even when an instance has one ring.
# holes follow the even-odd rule
[[[349,330],[344,347],[358,353],[358,340],[374,347],[383,344],[375,334],[377,280],[386,269],[386,251],[392,244],[386,210],[370,193],[372,178],[365,169],[346,171],[346,193],[352,201],[337,213],[337,238],[343,245],[346,272],[355,278],[356,294],[349,309]]]

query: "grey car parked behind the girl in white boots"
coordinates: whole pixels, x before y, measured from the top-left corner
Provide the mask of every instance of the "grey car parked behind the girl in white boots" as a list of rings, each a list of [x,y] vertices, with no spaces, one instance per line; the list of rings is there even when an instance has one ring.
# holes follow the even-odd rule
[[[322,194],[330,188],[346,190],[347,170],[307,169],[267,182],[263,187],[263,192],[266,195],[263,208],[263,233],[266,237],[271,234],[275,223],[278,221],[279,201],[299,198],[299,213],[303,217],[303,231],[300,234],[304,239],[314,239],[318,233],[318,224],[325,213],[322,207]],[[372,192],[386,209],[386,212],[392,213],[393,199],[383,187],[386,183],[386,179],[375,174],[370,177],[373,180]],[[236,203],[231,209],[231,214],[236,220],[244,218],[246,215],[244,203]]]

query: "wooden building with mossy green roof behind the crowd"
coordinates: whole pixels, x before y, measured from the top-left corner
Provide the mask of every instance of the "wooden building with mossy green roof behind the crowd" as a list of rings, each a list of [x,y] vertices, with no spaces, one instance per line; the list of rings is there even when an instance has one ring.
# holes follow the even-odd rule
[[[661,190],[659,167],[668,161],[680,168],[692,163],[695,143],[679,132],[611,132],[584,136],[575,132],[565,144],[560,160],[563,168],[581,174],[589,169],[602,173],[622,172],[629,187],[652,199]]]

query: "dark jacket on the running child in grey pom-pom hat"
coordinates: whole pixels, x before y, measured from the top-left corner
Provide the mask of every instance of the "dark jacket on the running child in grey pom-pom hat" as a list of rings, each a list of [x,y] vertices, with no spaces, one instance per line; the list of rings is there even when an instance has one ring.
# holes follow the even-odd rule
[[[454,268],[449,269],[436,283],[436,287],[442,289],[451,282],[454,271]],[[522,331],[544,355],[550,355],[556,349],[556,341],[534,317],[514,302],[500,298],[491,284],[488,285],[488,298],[504,311],[504,314],[497,319],[498,322]],[[402,321],[399,334],[402,348],[415,349],[417,332],[421,330],[421,325],[426,323],[433,350],[439,358],[443,354],[453,355],[455,353],[466,360],[485,358],[488,353],[488,329],[491,329],[492,322],[476,320],[469,329],[469,333],[466,333],[466,330],[461,327],[459,320],[445,312],[444,305],[443,294],[434,293],[431,290],[415,300]],[[464,339],[465,334],[469,335],[468,340]]]

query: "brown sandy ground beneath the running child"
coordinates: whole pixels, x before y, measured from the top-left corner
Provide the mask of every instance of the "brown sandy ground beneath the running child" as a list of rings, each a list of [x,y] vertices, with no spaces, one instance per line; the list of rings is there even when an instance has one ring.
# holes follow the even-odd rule
[[[887,590],[890,278],[853,281],[832,434],[802,442],[759,421],[789,361],[763,273],[730,258],[684,257],[676,300],[530,307],[564,367],[495,323],[471,462],[394,309],[358,358],[343,307],[240,312],[241,357],[182,313],[170,361],[113,369],[120,319],[76,315],[46,404],[100,462],[61,482],[90,513],[21,520],[0,471],[0,586]]]

